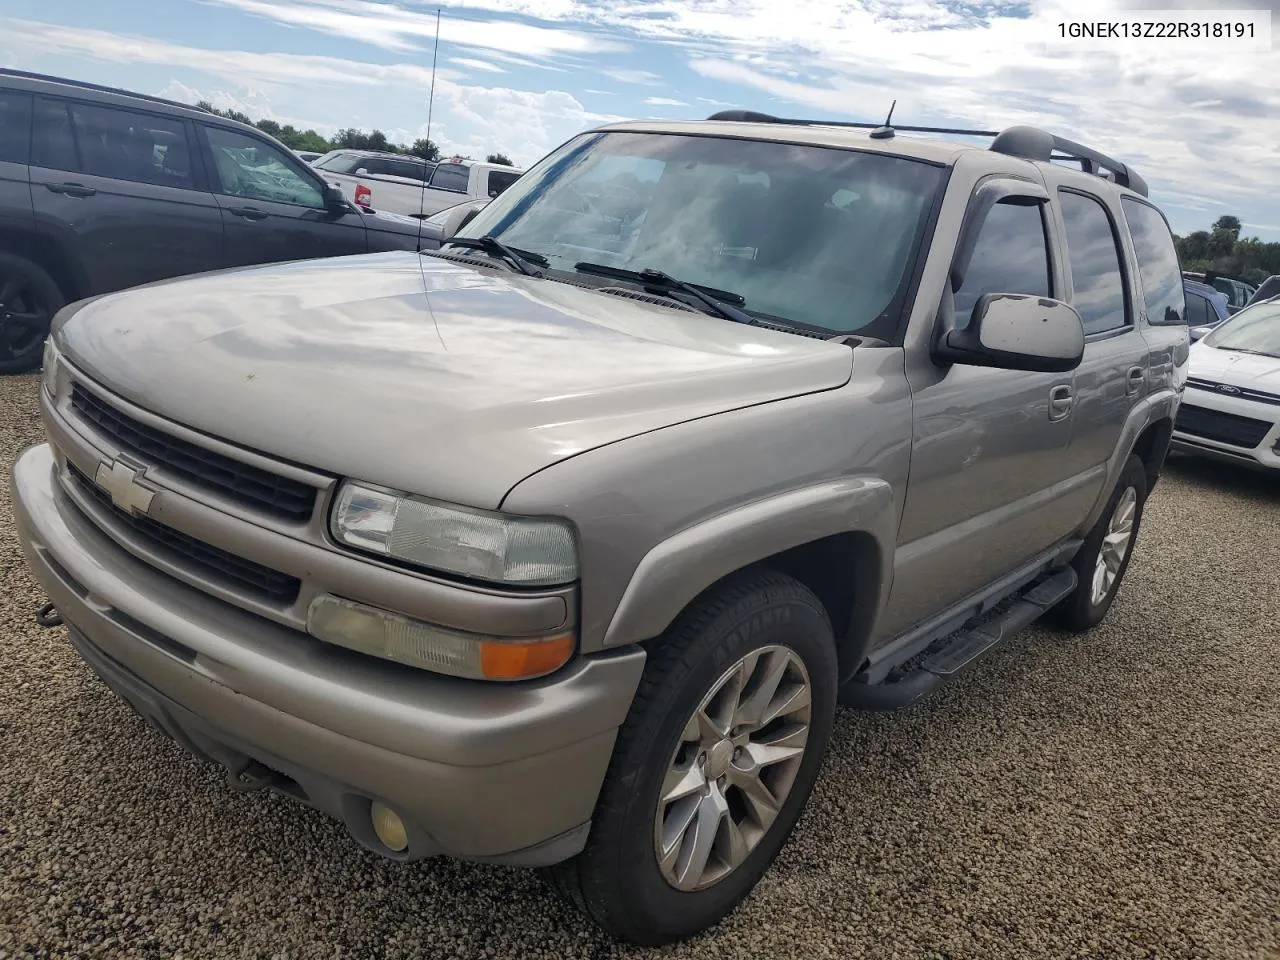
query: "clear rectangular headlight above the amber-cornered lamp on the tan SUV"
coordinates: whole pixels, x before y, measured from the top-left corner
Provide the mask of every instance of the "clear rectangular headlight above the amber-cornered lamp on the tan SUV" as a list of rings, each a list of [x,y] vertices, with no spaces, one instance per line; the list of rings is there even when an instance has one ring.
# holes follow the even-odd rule
[[[494,584],[577,580],[577,544],[564,521],[453,507],[367,484],[342,485],[333,535],[360,550]]]

